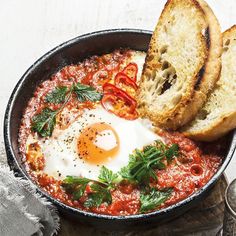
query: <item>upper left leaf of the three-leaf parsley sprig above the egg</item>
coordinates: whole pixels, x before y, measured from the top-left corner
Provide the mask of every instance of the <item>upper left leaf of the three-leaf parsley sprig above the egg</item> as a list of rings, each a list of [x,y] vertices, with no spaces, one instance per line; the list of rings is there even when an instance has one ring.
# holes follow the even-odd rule
[[[66,93],[67,93],[66,86],[56,87],[52,92],[48,93],[45,97],[45,102],[59,104],[65,101]]]

